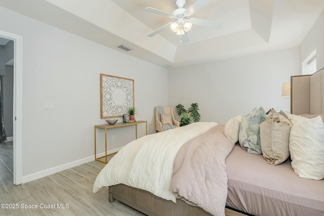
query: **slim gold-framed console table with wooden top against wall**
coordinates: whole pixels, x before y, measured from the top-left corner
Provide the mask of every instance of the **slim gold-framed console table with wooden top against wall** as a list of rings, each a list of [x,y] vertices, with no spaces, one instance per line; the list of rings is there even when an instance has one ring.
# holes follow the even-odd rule
[[[115,123],[115,124],[100,124],[100,125],[95,125],[95,160],[100,161],[102,163],[108,163],[107,162],[107,156],[114,154],[108,154],[107,155],[107,129],[111,129],[111,128],[116,128],[116,127],[125,127],[125,126],[131,126],[131,125],[135,125],[135,136],[137,139],[137,124],[142,124],[145,123],[146,124],[146,135],[147,135],[147,121],[133,121],[133,122],[119,122],[119,123]],[[102,157],[98,157],[97,158],[97,128],[101,128],[101,129],[105,129],[105,155]],[[104,160],[102,160],[103,158],[105,158]]]

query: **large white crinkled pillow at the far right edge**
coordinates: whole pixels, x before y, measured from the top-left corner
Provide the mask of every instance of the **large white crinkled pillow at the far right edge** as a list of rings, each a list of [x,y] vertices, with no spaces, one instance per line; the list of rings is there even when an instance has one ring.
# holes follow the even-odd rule
[[[304,179],[324,178],[324,123],[320,116],[293,125],[289,151],[295,173]]]

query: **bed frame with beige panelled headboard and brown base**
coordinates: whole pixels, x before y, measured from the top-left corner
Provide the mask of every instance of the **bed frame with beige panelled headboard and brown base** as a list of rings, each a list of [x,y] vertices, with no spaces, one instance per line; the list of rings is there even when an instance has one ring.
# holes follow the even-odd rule
[[[291,77],[291,113],[296,115],[324,113],[324,68],[313,75]],[[109,187],[109,202],[114,202],[115,199],[147,215],[212,215],[200,207],[187,204],[181,199],[177,199],[177,204],[175,204],[150,192],[123,184]],[[229,211],[231,210],[225,209],[225,214],[247,214],[238,210],[234,214]]]

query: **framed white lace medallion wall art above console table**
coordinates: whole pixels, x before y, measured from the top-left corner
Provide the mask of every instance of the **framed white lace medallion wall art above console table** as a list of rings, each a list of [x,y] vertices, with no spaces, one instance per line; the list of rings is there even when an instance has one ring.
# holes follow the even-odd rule
[[[134,107],[134,79],[100,74],[101,118],[123,117]]]

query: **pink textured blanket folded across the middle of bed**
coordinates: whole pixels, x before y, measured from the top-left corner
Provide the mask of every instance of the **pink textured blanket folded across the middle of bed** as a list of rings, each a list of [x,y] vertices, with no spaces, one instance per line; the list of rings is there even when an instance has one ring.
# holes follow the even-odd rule
[[[225,158],[233,147],[234,144],[224,135],[222,124],[185,143],[174,160],[169,190],[177,198],[213,215],[225,215]]]

